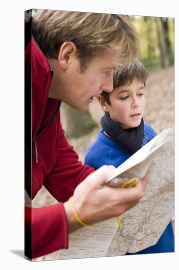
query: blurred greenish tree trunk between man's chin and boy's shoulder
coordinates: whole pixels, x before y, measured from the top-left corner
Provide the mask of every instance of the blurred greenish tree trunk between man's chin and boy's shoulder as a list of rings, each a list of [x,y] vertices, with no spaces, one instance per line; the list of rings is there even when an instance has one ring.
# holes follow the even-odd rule
[[[88,134],[93,128],[97,127],[96,123],[90,116],[90,112],[79,111],[68,105],[64,106],[67,117],[66,136],[77,138]]]

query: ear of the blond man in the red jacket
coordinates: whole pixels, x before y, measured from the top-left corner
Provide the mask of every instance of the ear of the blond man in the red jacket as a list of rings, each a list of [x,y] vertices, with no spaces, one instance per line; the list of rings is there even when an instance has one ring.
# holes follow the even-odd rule
[[[61,69],[66,70],[71,62],[71,57],[76,54],[77,48],[73,42],[66,41],[62,44],[58,55],[58,62]]]

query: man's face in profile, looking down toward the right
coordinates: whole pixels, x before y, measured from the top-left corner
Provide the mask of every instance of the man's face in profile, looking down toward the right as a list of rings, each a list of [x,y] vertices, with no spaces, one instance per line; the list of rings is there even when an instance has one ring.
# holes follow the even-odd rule
[[[102,57],[92,59],[82,73],[79,59],[72,57],[54,98],[78,110],[87,110],[93,97],[99,96],[102,91],[112,91],[113,70],[117,68],[119,58],[120,51],[107,51]]]

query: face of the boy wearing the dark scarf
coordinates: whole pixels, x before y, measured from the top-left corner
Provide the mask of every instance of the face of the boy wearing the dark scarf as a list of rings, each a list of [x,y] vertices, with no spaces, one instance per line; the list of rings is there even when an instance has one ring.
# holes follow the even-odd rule
[[[134,79],[131,84],[113,88],[110,102],[111,105],[105,102],[103,109],[123,129],[139,126],[145,109],[144,83]]]

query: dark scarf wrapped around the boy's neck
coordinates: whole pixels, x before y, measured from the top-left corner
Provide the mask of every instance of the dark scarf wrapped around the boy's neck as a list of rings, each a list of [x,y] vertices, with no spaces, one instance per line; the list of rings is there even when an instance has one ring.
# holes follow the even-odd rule
[[[134,154],[142,147],[144,136],[143,118],[138,127],[123,129],[118,122],[112,120],[109,113],[105,113],[101,118],[101,126],[108,136],[131,154]]]

